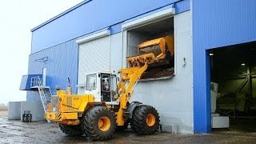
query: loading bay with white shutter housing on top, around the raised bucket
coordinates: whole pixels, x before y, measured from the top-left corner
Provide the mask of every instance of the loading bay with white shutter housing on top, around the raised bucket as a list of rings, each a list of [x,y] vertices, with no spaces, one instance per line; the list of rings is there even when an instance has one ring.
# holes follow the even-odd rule
[[[174,8],[158,11],[155,14],[140,16],[124,22],[126,57],[138,54],[138,45],[142,42],[166,36],[174,37]],[[174,50],[175,51],[175,50]],[[174,76],[174,59],[169,66],[158,66],[146,71],[142,79],[165,79]]]

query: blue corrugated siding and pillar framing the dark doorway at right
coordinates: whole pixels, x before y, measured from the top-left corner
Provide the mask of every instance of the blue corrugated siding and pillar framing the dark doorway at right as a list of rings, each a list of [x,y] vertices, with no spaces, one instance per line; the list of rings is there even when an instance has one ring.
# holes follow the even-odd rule
[[[193,0],[194,133],[210,131],[208,49],[256,41],[256,1]]]

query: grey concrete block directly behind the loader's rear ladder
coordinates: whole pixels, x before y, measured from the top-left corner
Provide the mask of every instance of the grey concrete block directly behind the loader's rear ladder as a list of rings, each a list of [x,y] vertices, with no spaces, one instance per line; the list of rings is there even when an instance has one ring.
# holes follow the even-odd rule
[[[30,110],[32,114],[32,122],[45,120],[45,113],[42,108],[42,102],[21,102],[21,120],[22,114],[24,114],[25,110]]]

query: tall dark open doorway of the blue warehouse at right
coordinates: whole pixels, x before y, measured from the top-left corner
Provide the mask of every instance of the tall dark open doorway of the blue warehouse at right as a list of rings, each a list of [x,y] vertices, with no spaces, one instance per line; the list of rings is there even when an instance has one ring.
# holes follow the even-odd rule
[[[213,131],[256,132],[256,42],[208,52]]]

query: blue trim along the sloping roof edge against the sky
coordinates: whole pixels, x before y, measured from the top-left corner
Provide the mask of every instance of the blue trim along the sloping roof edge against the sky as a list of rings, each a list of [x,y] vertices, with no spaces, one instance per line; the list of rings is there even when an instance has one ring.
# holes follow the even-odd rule
[[[86,4],[87,2],[90,2],[90,1],[92,1],[92,0],[85,0],[85,1],[83,1],[83,2],[80,2],[80,3],[78,3],[77,5],[71,7],[70,9],[65,10],[65,11],[62,12],[61,14],[56,15],[54,18],[50,18],[50,19],[47,20],[46,22],[43,22],[41,25],[34,27],[34,28],[31,29],[30,31],[33,32],[34,30],[38,30],[38,29],[41,28],[42,26],[45,26],[46,24],[48,24],[48,23],[50,23],[50,22],[53,22],[55,19],[60,18],[60,17],[62,17],[63,15],[70,13],[70,11],[77,9],[78,7],[80,7],[80,6]]]

